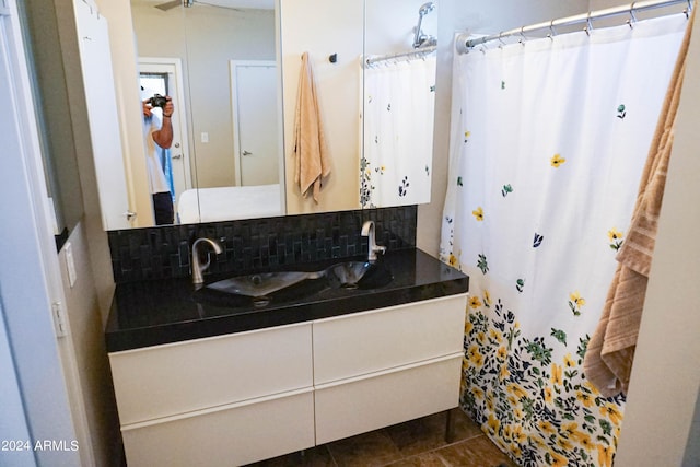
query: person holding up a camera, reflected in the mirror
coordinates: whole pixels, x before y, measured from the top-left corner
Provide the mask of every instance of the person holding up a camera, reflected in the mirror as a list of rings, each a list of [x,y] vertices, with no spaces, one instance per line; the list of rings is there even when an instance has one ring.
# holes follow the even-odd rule
[[[153,197],[155,225],[172,224],[175,220],[171,189],[158,155],[158,147],[168,149],[173,143],[171,116],[175,107],[170,96],[165,96],[165,101],[162,108],[153,107],[150,104],[150,97],[143,101],[145,163],[149,173],[149,188]]]

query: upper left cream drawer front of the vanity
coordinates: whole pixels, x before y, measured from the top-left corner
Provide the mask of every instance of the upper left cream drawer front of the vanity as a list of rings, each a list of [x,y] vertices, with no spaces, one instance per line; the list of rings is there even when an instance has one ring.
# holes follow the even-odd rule
[[[311,324],[109,353],[122,425],[313,385]]]

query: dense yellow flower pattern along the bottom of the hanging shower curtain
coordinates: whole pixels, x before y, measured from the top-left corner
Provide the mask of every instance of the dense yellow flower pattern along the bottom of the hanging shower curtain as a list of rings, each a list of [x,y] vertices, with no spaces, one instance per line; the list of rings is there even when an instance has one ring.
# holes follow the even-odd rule
[[[569,300],[585,305],[578,291]],[[585,380],[587,340],[569,351],[565,339],[527,339],[486,291],[471,297],[465,329],[462,406],[505,453],[520,465],[612,466],[623,396],[606,399]],[[563,346],[561,357],[550,346]]]

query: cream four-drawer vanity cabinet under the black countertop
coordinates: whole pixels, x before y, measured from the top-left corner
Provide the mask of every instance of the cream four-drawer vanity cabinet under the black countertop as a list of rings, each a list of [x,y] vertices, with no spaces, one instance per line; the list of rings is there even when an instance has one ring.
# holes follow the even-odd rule
[[[242,465],[456,407],[466,296],[109,353],[129,467]]]

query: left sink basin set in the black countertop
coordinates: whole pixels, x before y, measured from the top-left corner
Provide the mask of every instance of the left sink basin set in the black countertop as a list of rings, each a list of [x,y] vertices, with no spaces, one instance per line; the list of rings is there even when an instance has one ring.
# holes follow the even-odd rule
[[[223,279],[207,285],[208,289],[218,290],[224,293],[235,293],[246,296],[266,296],[270,293],[294,285],[306,279],[318,279],[323,277],[320,272],[262,272],[235,278]]]

